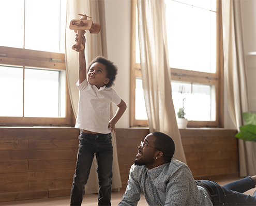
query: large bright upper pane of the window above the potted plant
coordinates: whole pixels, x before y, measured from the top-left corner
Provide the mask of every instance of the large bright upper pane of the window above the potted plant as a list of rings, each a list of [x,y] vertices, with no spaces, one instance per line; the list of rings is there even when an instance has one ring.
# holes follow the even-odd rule
[[[216,72],[216,13],[165,1],[170,67]]]

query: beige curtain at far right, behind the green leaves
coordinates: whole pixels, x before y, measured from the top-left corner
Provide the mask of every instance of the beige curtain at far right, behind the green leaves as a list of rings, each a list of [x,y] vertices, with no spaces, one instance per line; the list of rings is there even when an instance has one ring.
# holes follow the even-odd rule
[[[239,131],[239,127],[243,125],[242,113],[249,111],[240,1],[222,0],[222,24],[228,108],[232,121]],[[238,147],[240,176],[255,175],[255,143],[239,140]]]

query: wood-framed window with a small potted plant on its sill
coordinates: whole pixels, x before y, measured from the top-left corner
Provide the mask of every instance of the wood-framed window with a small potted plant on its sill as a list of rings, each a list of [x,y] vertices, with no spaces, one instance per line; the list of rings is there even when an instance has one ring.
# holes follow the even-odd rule
[[[147,124],[147,116],[141,88],[136,1],[131,4],[130,126],[141,126]],[[177,114],[185,99],[188,127],[223,127],[220,5],[219,0],[165,1],[173,103]]]

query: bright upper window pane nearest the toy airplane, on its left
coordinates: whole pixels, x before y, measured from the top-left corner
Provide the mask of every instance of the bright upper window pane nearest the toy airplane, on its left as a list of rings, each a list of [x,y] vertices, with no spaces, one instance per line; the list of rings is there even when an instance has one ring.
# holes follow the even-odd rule
[[[62,50],[64,53],[65,30],[63,29],[66,23],[66,9],[63,7],[66,5],[65,2],[66,0],[26,0],[26,49],[46,52],[61,52]]]

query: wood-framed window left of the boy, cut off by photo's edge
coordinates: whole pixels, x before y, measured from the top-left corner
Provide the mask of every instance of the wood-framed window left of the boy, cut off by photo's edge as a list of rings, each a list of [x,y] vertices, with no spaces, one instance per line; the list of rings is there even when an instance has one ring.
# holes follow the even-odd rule
[[[0,18],[0,125],[71,125],[66,0],[1,1]]]

